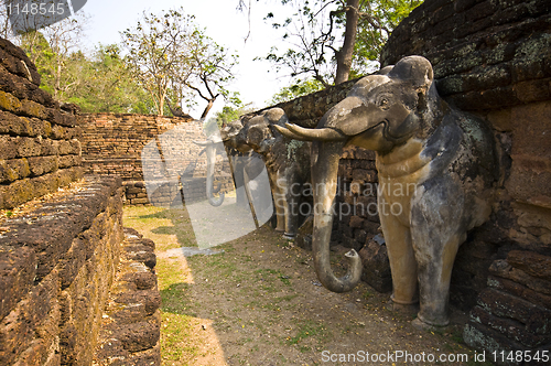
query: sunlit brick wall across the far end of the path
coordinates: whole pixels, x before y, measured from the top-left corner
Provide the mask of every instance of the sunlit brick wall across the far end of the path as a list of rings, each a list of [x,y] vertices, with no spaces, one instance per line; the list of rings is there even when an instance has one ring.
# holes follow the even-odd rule
[[[162,190],[149,192],[148,195],[143,172],[150,168],[159,173],[168,173],[170,177],[177,177],[193,164],[193,176],[186,177],[186,184],[193,185],[195,197],[206,197],[206,158],[201,154],[204,148],[192,142],[206,139],[201,121],[180,117],[88,114],[83,115],[82,128],[85,172],[121,176],[127,189],[127,204],[149,204],[152,198],[155,205],[168,207],[179,200],[181,184],[176,181],[168,181]],[[174,128],[177,128],[177,133],[165,133]],[[162,158],[161,161],[153,159],[149,161],[149,165],[143,166],[142,150],[151,142],[163,152]],[[168,171],[159,170],[160,165],[164,165]],[[220,174],[222,171],[226,173]],[[223,183],[224,191],[233,189],[231,177],[227,172],[227,161],[225,164],[217,164],[215,176]],[[151,180],[150,176],[148,179]],[[155,179],[163,181],[166,176]]]

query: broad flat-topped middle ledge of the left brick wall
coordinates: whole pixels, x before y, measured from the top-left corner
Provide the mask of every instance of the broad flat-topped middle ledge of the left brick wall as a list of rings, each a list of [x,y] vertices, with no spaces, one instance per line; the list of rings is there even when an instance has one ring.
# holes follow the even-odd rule
[[[2,223],[0,364],[91,363],[122,241],[122,190],[76,192]]]

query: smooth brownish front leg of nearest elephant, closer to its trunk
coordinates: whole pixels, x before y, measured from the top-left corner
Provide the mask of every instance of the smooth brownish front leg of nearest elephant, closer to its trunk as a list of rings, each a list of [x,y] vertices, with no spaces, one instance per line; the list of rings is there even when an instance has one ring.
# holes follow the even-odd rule
[[[392,213],[382,195],[378,196],[378,207],[392,274],[392,301],[402,305],[415,304],[419,301],[418,267],[410,228]]]

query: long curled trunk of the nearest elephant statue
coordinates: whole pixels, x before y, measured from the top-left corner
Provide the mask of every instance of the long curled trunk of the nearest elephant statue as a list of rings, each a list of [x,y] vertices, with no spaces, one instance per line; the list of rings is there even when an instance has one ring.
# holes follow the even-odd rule
[[[344,141],[314,141],[312,143],[312,184],[314,191],[313,255],[317,278],[333,292],[350,291],[360,280],[361,259],[352,249],[347,273],[337,278],[331,269],[329,240],[333,228],[333,208],[337,189],[337,169]]]

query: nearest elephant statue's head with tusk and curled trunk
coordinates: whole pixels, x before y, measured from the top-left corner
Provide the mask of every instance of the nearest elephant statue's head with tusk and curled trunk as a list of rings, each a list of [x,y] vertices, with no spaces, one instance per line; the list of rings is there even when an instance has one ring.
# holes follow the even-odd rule
[[[298,140],[313,141],[311,169],[314,187],[314,263],[320,281],[331,291],[352,290],[361,277],[361,260],[353,249],[346,254],[348,272],[337,278],[329,265],[329,238],[337,168],[347,144],[391,152],[411,138],[422,139],[435,128],[428,121],[441,120],[442,107],[433,85],[432,66],[423,57],[402,58],[393,67],[361,78],[348,96],[329,109],[315,129],[287,123],[274,126]],[[430,118],[428,117],[430,115]]]

